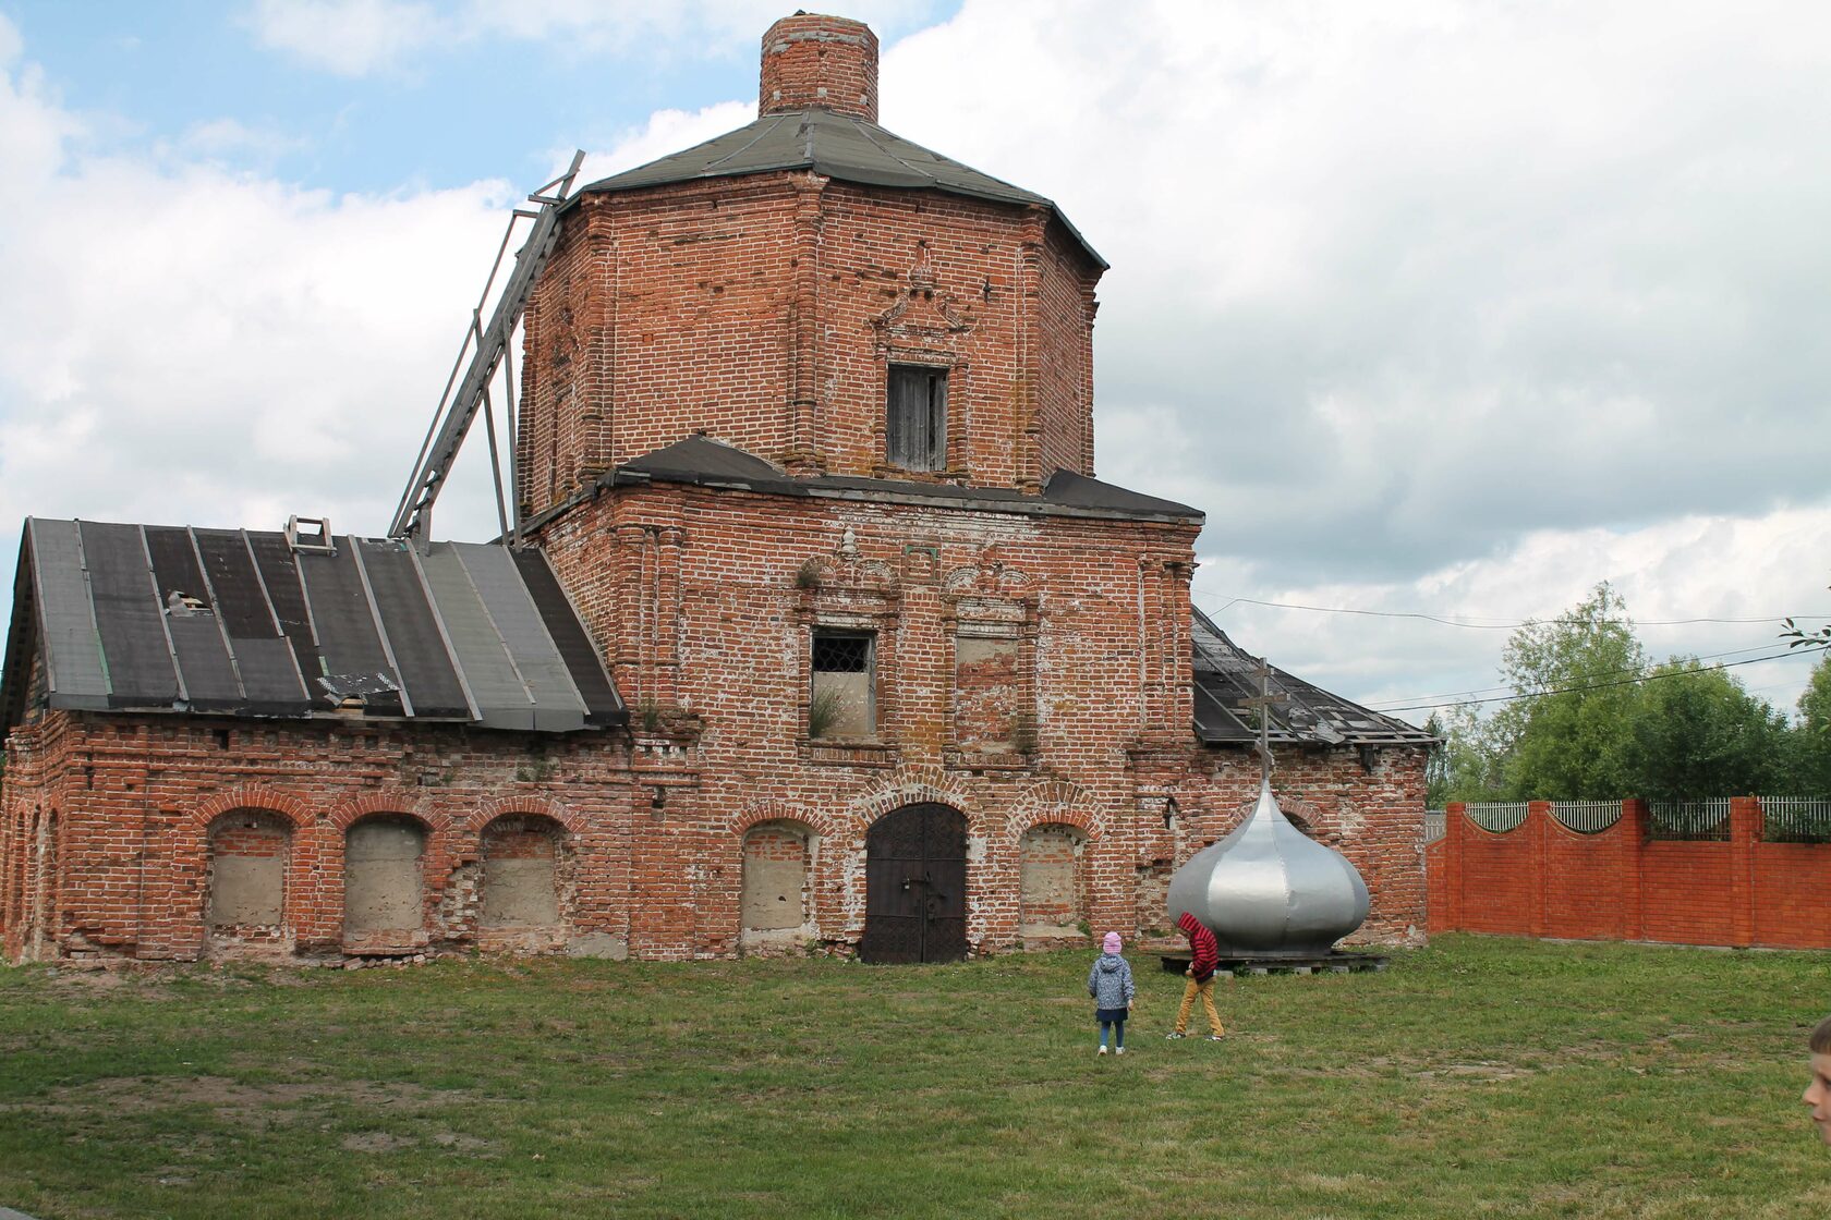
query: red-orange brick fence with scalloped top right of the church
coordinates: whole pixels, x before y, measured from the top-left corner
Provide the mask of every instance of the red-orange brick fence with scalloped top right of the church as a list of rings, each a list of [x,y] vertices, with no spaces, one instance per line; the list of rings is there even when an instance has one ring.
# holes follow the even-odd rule
[[[1761,797],[1452,803],[1425,849],[1428,927],[1827,949],[1827,814]]]

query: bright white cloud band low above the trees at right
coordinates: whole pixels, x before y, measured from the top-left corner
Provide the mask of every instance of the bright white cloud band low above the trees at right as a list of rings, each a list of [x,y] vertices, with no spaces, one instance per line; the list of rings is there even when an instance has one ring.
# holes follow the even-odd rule
[[[1390,582],[1284,582],[1278,563],[1203,554],[1196,604],[1236,640],[1320,686],[1373,706],[1419,704],[1496,690],[1500,647],[1522,616],[1553,618],[1608,580],[1641,624],[1648,651],[1738,662],[1736,673],[1791,708],[1811,657],[1785,653],[1782,615],[1826,613],[1831,573],[1802,563],[1824,554],[1831,507],[1761,516],[1683,516],[1633,530],[1534,530],[1489,556]],[[1251,598],[1234,600],[1234,598]],[[1256,605],[1349,607],[1373,615]],[[1446,627],[1386,615],[1425,613]],[[1714,618],[1725,622],[1675,622]],[[1423,722],[1428,710],[1406,712]]]

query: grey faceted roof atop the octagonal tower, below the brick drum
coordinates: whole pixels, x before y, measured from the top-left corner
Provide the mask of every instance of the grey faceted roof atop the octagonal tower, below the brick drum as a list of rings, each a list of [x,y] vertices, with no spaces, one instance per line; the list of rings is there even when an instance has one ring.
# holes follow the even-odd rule
[[[875,123],[831,110],[785,110],[764,115],[736,132],[725,132],[703,144],[599,179],[579,194],[639,190],[701,177],[734,177],[776,170],[813,170],[842,183],[945,190],[992,203],[1046,207],[1075,236],[1088,258],[1102,269],[1106,267],[1106,260],[1080,236],[1062,209],[1044,196],[930,152]]]

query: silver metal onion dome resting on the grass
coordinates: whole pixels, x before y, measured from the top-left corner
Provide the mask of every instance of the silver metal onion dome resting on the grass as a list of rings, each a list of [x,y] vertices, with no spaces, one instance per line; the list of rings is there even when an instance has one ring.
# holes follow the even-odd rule
[[[1263,783],[1252,816],[1170,878],[1170,924],[1185,911],[1225,957],[1320,957],[1366,920],[1368,887],[1346,856],[1293,827]]]

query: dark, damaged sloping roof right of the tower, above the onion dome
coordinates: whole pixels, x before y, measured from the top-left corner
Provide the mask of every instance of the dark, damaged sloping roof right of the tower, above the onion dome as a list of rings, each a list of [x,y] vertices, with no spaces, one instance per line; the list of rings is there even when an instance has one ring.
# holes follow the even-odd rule
[[[1260,662],[1227,638],[1199,609],[1190,631],[1196,651],[1196,735],[1205,744],[1258,741],[1256,712],[1247,699],[1260,693]],[[1428,746],[1436,737],[1390,715],[1370,712],[1320,686],[1311,686],[1271,666],[1271,693],[1287,702],[1274,706],[1267,737],[1271,744],[1296,746]]]

